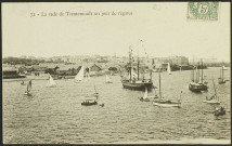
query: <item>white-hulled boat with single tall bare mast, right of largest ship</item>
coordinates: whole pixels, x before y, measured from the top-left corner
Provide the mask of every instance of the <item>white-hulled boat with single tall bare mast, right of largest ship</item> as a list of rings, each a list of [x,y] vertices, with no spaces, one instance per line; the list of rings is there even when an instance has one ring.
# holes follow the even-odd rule
[[[181,91],[182,93],[182,91]],[[165,99],[162,96],[162,81],[160,81],[160,71],[159,71],[159,98],[157,101],[153,102],[154,106],[162,106],[162,107],[180,107],[181,102],[180,101],[170,101],[170,99]]]

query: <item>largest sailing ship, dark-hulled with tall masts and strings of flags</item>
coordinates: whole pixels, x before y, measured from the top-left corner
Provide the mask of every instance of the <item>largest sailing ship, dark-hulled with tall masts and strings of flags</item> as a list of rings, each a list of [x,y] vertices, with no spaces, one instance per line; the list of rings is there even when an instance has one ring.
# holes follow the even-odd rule
[[[133,71],[133,65],[132,65],[132,49],[129,49],[129,79],[121,79],[123,87],[125,89],[130,90],[145,90],[145,87],[147,90],[154,89],[152,82],[152,74],[150,75],[150,79],[144,79],[144,77],[140,78],[140,61],[139,61],[139,54],[138,54],[138,66],[137,66],[137,74]]]

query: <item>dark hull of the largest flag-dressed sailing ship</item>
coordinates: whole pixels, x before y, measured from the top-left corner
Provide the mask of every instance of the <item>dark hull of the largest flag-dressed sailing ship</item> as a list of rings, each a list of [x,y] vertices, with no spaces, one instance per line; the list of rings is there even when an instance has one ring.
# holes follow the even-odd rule
[[[141,82],[141,83],[123,82],[123,85],[125,89],[138,90],[138,91],[144,91],[145,87],[147,88],[149,91],[154,89],[154,85],[152,82]]]

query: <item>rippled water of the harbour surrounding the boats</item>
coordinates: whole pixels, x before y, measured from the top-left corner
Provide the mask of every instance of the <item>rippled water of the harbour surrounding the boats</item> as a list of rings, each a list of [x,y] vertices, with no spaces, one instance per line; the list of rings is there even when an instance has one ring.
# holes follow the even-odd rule
[[[46,88],[47,80],[33,80],[31,97],[23,95],[26,85],[20,81],[3,82],[3,143],[117,143],[152,140],[225,138],[231,137],[230,81],[217,84],[217,94],[227,115],[216,118],[215,106],[203,103],[214,94],[211,78],[219,68],[205,71],[209,92],[189,91],[190,71],[162,72],[162,92],[167,98],[180,98],[181,108],[160,108],[151,102],[140,102],[140,91],[123,89],[120,77],[113,83],[105,77],[92,77],[89,82],[56,80],[57,88]],[[224,72],[230,80],[230,70]],[[158,74],[153,74],[158,87]],[[86,94],[100,93],[104,107],[81,106]],[[153,91],[154,92],[154,91]],[[151,92],[149,94],[152,94]]]

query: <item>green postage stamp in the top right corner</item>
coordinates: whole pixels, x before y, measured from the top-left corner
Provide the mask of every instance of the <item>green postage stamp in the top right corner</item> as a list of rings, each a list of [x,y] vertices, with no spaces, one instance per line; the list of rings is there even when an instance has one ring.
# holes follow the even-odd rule
[[[189,2],[188,18],[218,21],[219,2]]]

